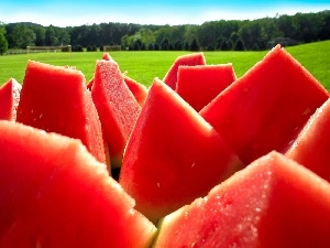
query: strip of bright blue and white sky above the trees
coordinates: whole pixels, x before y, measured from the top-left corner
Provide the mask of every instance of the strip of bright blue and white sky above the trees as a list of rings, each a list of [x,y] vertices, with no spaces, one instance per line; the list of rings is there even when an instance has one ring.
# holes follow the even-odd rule
[[[140,24],[201,24],[212,20],[243,20],[330,10],[330,0],[0,0],[0,22],[29,21],[75,26],[101,22]]]

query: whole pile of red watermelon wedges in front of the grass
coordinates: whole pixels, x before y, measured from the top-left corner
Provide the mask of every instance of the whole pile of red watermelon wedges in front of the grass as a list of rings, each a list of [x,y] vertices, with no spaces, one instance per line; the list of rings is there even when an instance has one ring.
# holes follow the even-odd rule
[[[148,88],[29,61],[0,119],[1,248],[330,247],[329,93],[279,45]]]

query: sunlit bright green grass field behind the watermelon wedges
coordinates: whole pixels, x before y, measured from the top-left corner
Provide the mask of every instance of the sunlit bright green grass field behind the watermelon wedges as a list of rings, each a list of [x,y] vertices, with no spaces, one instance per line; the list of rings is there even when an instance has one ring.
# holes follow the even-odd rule
[[[324,87],[330,89],[330,41],[287,47],[286,50],[300,62]],[[148,86],[154,77],[163,78],[172,63],[179,55],[189,52],[112,52],[120,69],[135,80]],[[207,64],[232,63],[238,77],[242,76],[267,51],[263,52],[204,52]],[[69,65],[80,69],[88,82],[94,74],[96,60],[102,52],[84,53],[38,53],[9,55],[0,57],[0,85],[10,77],[22,83],[29,60],[53,65]]]

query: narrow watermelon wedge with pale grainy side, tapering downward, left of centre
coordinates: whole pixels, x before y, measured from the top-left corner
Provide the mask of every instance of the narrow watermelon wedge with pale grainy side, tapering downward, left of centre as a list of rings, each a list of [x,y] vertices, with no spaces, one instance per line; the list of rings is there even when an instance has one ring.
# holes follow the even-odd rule
[[[111,165],[119,168],[141,106],[113,60],[97,61],[91,95],[109,147]]]

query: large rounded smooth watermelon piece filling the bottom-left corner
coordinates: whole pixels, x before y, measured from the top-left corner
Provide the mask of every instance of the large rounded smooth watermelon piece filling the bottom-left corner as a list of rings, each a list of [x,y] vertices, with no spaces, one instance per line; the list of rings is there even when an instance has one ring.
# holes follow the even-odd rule
[[[0,121],[0,247],[148,247],[155,226],[77,139]]]

